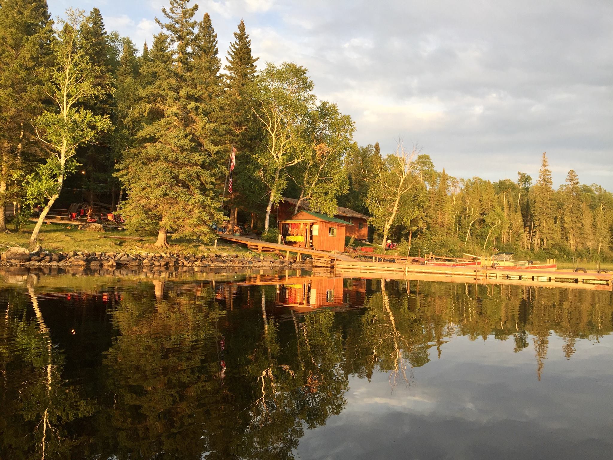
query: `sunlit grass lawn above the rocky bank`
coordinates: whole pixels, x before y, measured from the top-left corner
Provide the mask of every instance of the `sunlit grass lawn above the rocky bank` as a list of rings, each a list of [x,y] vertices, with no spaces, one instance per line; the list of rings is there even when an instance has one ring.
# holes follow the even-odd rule
[[[25,226],[19,232],[0,233],[0,252],[9,246],[28,247],[29,238],[34,229],[34,223]],[[39,242],[44,250],[51,252],[59,251],[88,251],[88,252],[153,252],[153,253],[181,253],[203,254],[208,252],[232,252],[238,255],[251,253],[246,247],[218,240],[217,247],[203,245],[201,242],[191,239],[175,239],[169,237],[170,247],[156,248],[153,243],[156,237],[143,237],[144,241],[116,240],[105,238],[106,236],[132,236],[125,231],[117,229],[105,229],[104,233],[79,230],[72,224],[43,224],[39,233]]]

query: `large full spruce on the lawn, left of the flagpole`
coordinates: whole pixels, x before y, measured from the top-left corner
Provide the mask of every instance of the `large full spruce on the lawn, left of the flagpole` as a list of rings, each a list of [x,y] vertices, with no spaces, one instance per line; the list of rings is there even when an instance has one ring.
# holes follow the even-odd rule
[[[157,230],[159,247],[167,245],[169,230],[175,236],[205,237],[211,222],[223,220],[216,189],[218,148],[208,137],[212,128],[196,94],[194,59],[203,57],[203,42],[194,46],[197,6],[188,4],[171,0],[170,9],[162,9],[167,22],[158,23],[166,33],[154,37],[142,66],[145,121],[139,145],[129,150],[117,173],[128,194],[120,212],[132,229]]]

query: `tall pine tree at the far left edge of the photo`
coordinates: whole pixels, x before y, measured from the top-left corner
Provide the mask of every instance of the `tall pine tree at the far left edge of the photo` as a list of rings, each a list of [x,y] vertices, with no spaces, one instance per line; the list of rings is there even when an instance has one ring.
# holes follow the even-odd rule
[[[5,205],[21,201],[21,182],[38,144],[32,121],[44,110],[44,79],[53,21],[45,0],[6,0],[0,6],[0,231]]]

